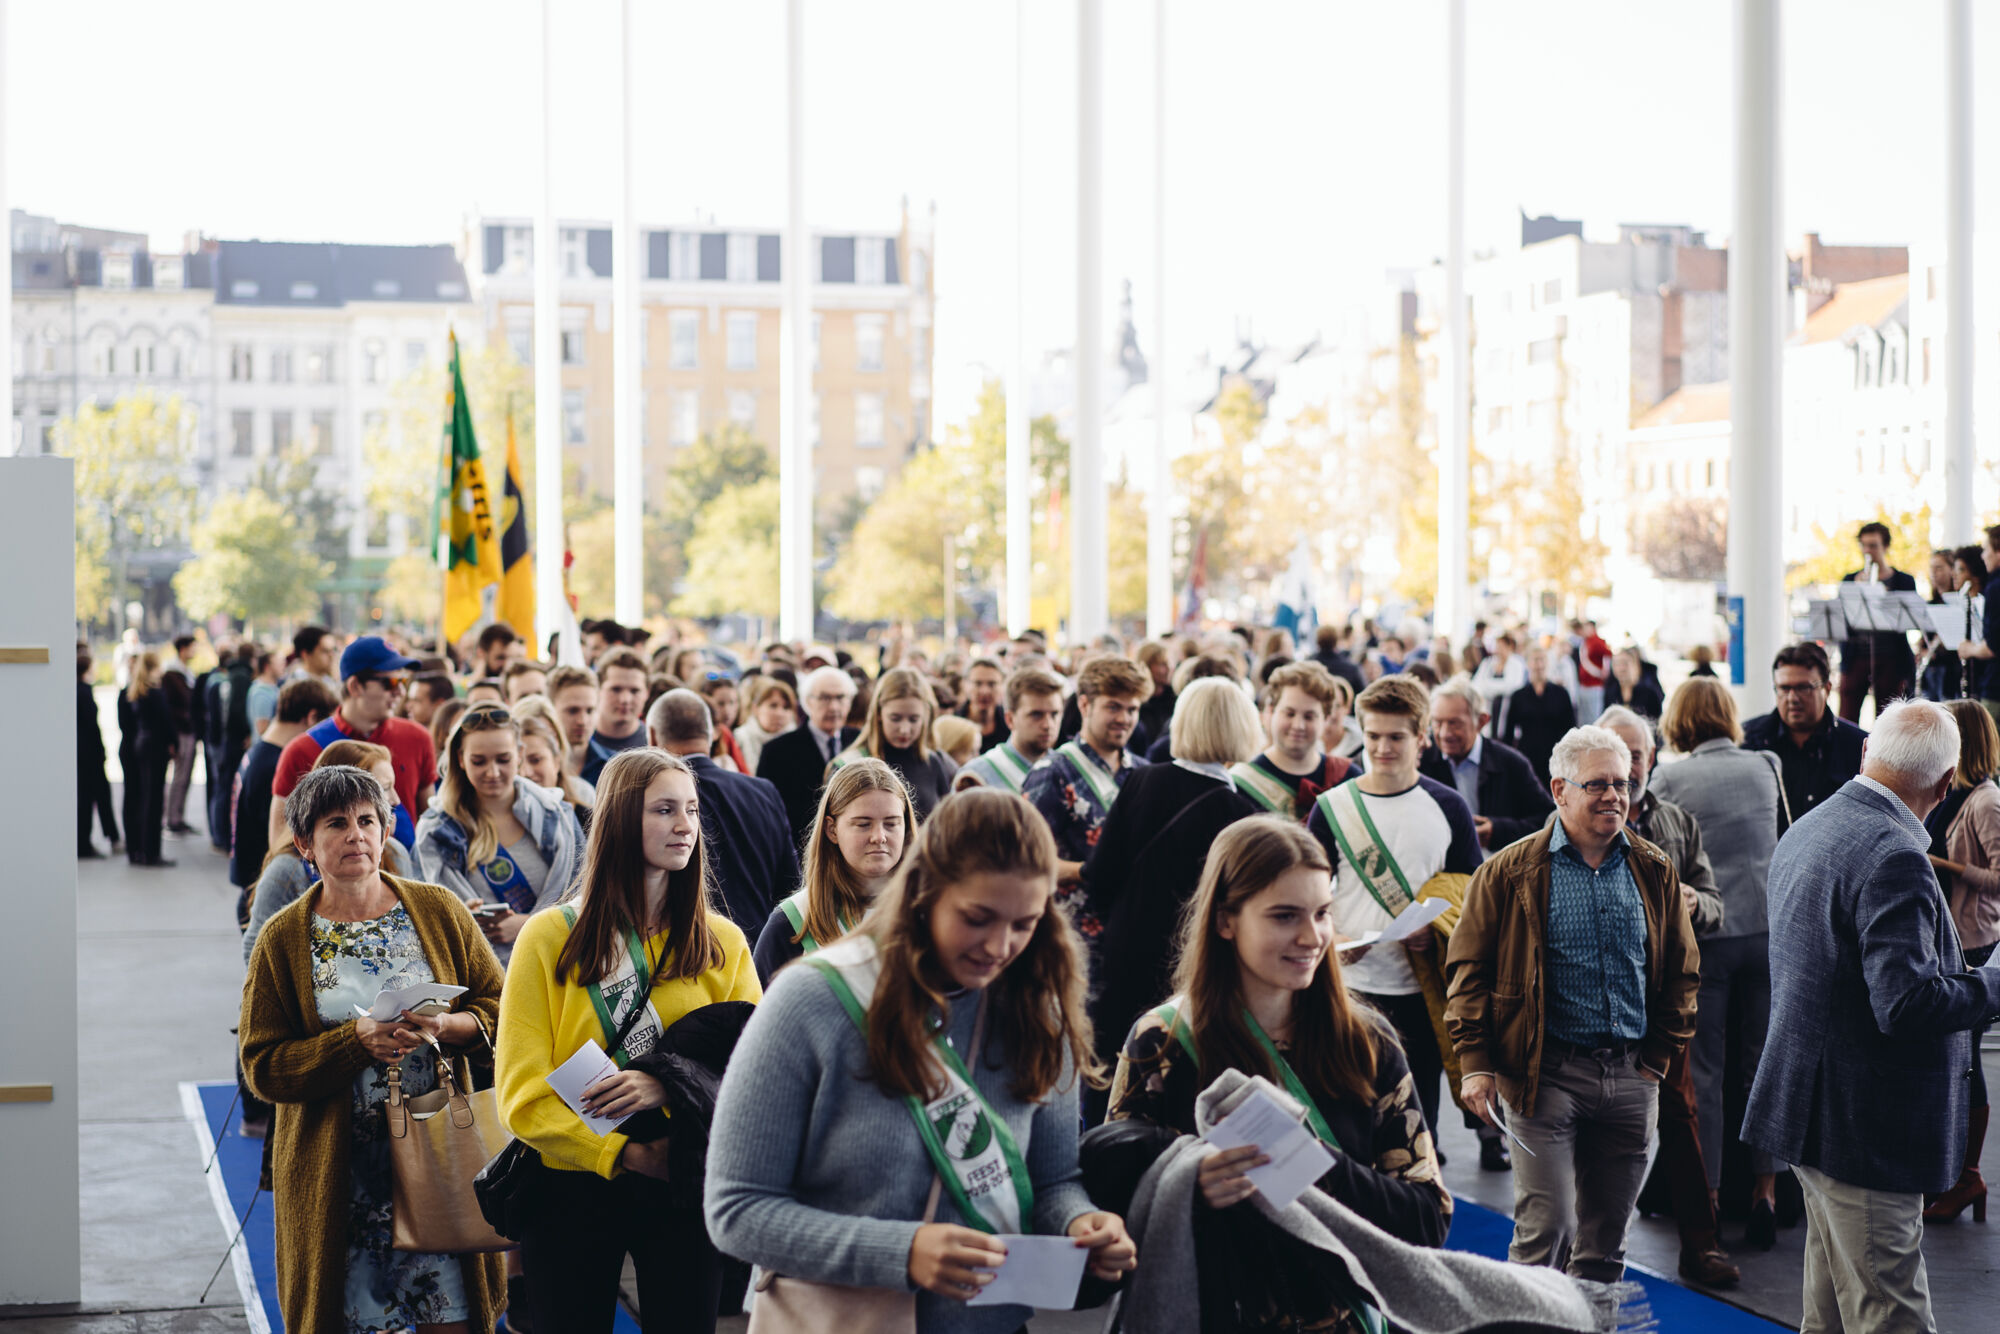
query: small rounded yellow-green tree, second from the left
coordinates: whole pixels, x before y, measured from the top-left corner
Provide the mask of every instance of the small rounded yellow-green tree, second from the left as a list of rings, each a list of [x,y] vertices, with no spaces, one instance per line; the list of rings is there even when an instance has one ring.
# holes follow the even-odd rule
[[[302,540],[296,516],[262,490],[216,496],[194,526],[194,560],[174,574],[188,614],[254,620],[310,616],[332,572]]]

